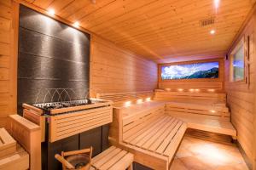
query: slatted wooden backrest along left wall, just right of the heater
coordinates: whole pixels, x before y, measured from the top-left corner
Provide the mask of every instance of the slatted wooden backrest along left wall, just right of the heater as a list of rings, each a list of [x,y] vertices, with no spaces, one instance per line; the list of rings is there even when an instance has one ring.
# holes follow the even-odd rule
[[[148,99],[153,98],[153,91],[141,91],[141,92],[125,92],[125,93],[108,93],[108,94],[96,94],[98,99],[107,99],[113,101],[113,105],[121,106],[125,105],[125,102],[129,101],[136,103],[138,99]]]

